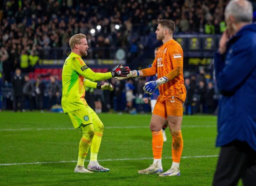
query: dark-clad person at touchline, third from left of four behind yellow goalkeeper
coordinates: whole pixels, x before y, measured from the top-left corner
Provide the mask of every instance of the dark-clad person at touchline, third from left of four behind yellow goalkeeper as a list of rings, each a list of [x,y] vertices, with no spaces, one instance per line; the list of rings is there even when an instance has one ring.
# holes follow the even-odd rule
[[[36,78],[36,83],[35,83],[35,93],[36,93],[36,108],[41,110],[43,112],[43,98],[44,98],[44,83],[41,79],[41,77]]]

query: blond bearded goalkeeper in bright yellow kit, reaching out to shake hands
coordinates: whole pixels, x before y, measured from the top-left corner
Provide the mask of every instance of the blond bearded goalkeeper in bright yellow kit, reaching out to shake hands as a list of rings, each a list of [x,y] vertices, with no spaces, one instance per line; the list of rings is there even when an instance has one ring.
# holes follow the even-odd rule
[[[96,83],[93,81],[107,80],[117,76],[127,76],[129,67],[118,65],[114,71],[107,73],[95,73],[84,63],[82,56],[87,56],[88,43],[84,34],[76,34],[70,38],[71,53],[65,60],[62,70],[62,99],[61,105],[64,113],[71,119],[74,128],[80,128],[82,139],[79,143],[77,166],[74,172],[92,173],[108,172],[97,162],[103,134],[103,124],[97,114],[87,105],[85,87],[109,89],[114,87],[108,82]],[[91,80],[91,81],[90,81]],[[84,159],[91,146],[91,159],[87,169],[84,168]]]

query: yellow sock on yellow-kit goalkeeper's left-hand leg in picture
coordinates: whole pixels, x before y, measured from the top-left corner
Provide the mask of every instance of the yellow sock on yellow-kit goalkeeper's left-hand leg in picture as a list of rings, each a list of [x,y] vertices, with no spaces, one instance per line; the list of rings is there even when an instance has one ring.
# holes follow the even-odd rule
[[[78,160],[77,165],[84,166],[84,159],[87,155],[87,152],[90,148],[91,141],[85,139],[84,137],[81,138],[79,143],[79,152],[78,152]]]

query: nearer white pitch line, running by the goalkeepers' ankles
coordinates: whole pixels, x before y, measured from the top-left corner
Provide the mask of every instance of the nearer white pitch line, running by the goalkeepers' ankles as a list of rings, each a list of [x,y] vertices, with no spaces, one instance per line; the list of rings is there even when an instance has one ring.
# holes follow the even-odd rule
[[[219,155],[207,155],[207,156],[183,156],[181,158],[211,158],[211,157],[218,157]],[[143,159],[153,159],[151,158],[124,158],[124,159],[101,159],[99,161],[125,161],[125,160],[143,160]],[[165,157],[162,159],[172,159],[172,157]],[[89,160],[85,160],[89,161]],[[46,162],[31,162],[31,163],[4,163],[0,164],[0,166],[11,166],[11,165],[35,165],[35,164],[51,164],[51,163],[74,163],[77,162],[76,160],[71,161],[46,161]]]

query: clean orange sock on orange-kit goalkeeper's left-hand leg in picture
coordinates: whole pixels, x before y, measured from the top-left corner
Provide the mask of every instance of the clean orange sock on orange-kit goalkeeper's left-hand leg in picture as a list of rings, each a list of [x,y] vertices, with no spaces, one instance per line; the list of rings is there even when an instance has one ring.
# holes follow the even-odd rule
[[[162,159],[162,151],[163,151],[163,144],[164,144],[162,130],[158,132],[151,131],[151,133],[152,133],[152,149],[153,149],[154,159]]]

